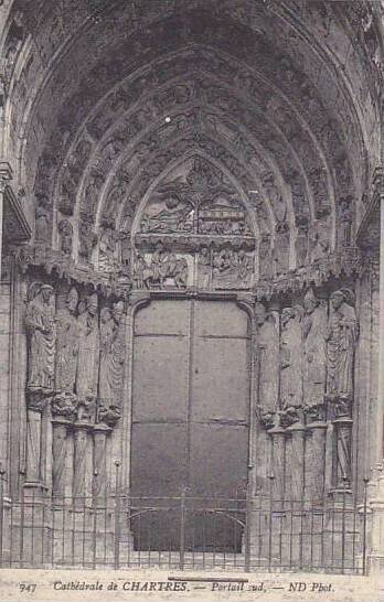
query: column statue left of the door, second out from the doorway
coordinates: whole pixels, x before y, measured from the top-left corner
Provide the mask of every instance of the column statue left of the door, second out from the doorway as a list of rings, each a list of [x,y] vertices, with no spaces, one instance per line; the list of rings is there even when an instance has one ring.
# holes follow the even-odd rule
[[[79,315],[77,318],[78,359],[76,393],[78,401],[84,408],[93,407],[97,394],[99,363],[97,308],[97,294],[90,294],[84,304],[79,304]],[[84,416],[84,418],[87,418],[87,416]]]

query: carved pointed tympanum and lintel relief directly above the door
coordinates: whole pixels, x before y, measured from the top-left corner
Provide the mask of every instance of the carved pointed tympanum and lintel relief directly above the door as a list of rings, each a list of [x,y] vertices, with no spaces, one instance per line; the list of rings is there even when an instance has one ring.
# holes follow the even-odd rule
[[[239,196],[234,184],[203,158],[172,170],[140,216],[135,286],[250,288],[255,239]]]

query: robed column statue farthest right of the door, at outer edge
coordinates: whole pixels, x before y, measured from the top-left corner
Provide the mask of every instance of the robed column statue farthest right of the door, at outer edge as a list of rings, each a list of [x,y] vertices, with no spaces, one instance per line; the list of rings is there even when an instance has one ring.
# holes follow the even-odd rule
[[[340,289],[330,297],[327,341],[327,395],[334,401],[351,401],[353,395],[354,350],[359,323],[353,308],[354,297]]]

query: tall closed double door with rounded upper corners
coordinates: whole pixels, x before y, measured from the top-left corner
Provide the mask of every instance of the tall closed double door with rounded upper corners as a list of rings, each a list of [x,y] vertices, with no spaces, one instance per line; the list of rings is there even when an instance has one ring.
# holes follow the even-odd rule
[[[232,301],[152,300],[136,314],[134,333],[136,548],[238,551],[249,439],[247,314]]]

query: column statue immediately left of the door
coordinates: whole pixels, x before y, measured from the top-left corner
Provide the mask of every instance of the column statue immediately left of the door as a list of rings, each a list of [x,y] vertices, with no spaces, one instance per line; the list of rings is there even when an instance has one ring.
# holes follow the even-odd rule
[[[98,397],[103,406],[119,406],[122,387],[125,344],[122,338],[124,304],[100,312],[100,369]]]

